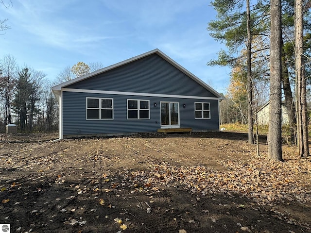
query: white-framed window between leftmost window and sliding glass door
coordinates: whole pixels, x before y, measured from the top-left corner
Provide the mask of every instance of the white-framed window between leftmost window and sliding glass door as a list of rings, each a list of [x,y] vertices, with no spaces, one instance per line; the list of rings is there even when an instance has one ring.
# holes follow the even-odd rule
[[[127,119],[149,119],[149,100],[127,100]]]

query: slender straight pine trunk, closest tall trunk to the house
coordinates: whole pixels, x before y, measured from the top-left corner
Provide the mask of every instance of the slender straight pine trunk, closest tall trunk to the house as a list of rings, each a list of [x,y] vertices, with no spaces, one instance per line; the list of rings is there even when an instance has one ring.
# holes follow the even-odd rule
[[[246,0],[246,28],[247,28],[247,121],[248,121],[248,143],[254,144],[253,133],[253,80],[251,66],[252,34],[250,24],[249,0]]]

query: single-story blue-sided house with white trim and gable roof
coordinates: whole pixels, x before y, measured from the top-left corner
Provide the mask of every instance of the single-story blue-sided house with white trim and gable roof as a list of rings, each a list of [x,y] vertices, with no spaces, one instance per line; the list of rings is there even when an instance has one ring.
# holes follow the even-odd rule
[[[219,130],[224,97],[155,49],[52,87],[60,139]]]

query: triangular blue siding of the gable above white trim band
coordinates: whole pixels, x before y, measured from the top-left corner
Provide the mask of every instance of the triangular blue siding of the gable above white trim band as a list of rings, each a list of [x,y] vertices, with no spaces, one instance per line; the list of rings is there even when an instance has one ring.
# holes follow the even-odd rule
[[[108,70],[66,88],[216,97],[157,54]]]

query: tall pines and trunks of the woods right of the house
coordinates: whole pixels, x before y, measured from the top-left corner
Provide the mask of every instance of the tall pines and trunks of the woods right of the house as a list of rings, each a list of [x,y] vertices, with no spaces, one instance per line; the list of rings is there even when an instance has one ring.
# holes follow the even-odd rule
[[[298,146],[300,156],[309,156],[310,0],[214,0],[211,6],[217,16],[207,29],[227,50],[208,65],[232,68],[226,100],[220,104],[221,124],[247,125],[248,141],[256,143],[257,113],[269,103],[268,144],[272,143],[270,148],[277,155],[271,151],[268,157],[282,160],[284,102],[289,141]]]

